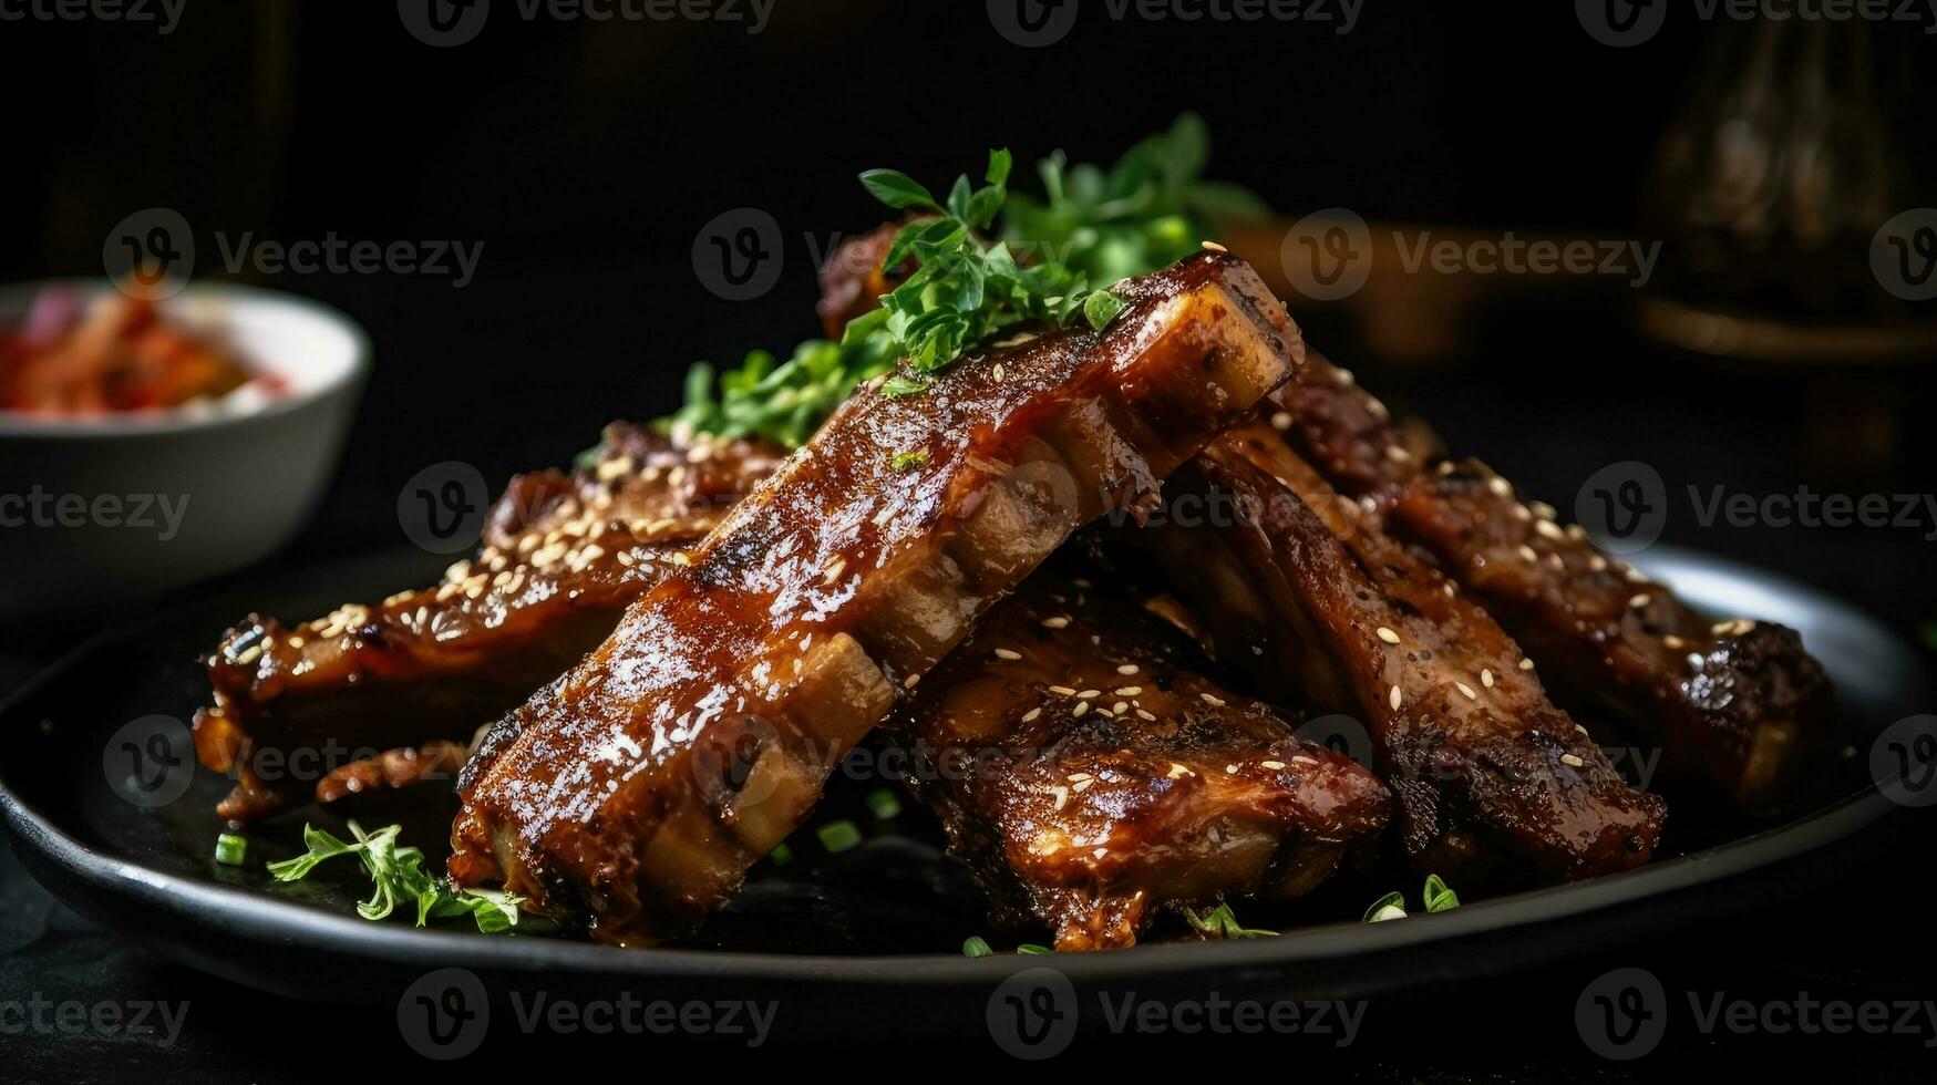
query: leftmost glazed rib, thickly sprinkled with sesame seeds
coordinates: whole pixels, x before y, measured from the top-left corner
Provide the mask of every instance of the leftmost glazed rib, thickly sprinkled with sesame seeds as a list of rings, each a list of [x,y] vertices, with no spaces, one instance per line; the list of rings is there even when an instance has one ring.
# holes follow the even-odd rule
[[[436,750],[409,748],[469,740],[597,647],[775,463],[767,446],[614,424],[581,471],[513,479],[480,552],[436,587],[294,628],[252,614],[209,657],[215,703],[196,715],[201,763],[238,781],[219,812],[300,800],[291,777],[314,773],[291,771],[298,758],[329,771],[325,800],[444,771]],[[413,771],[327,763],[395,746]]]

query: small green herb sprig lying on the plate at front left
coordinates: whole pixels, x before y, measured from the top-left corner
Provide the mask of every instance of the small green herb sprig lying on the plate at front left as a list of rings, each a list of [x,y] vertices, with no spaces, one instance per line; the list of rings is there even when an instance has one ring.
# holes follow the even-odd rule
[[[354,841],[341,841],[316,825],[302,827],[304,854],[269,864],[269,874],[277,882],[300,882],[322,862],[339,854],[354,854],[370,876],[370,899],[356,903],[356,914],[378,920],[397,911],[397,905],[416,911],[416,926],[432,918],[451,918],[469,914],[484,934],[498,934],[517,926],[521,901],[515,893],[498,889],[453,889],[444,878],[434,878],[424,870],[424,852],[413,847],[397,847],[397,833],[403,825],[387,825],[366,833],[356,822],[349,823]]]

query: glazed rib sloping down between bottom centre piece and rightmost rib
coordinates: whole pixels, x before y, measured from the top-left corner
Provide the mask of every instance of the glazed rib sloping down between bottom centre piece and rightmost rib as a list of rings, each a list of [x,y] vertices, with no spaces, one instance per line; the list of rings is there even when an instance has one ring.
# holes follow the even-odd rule
[[[1662,800],[1621,781],[1484,608],[1354,517],[1269,424],[1234,428],[1193,467],[1230,519],[1149,533],[1158,554],[1267,696],[1309,686],[1369,723],[1414,866],[1505,887],[1648,860]]]

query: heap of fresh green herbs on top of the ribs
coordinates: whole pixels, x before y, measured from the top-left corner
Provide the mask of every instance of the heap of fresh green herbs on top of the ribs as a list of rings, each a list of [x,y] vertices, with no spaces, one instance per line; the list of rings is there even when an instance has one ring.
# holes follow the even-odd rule
[[[786,360],[753,351],[726,372],[695,364],[686,405],[666,422],[798,446],[864,382],[887,376],[889,395],[920,391],[965,349],[1029,322],[1081,312],[1102,329],[1123,308],[1108,287],[1189,256],[1218,223],[1265,213],[1247,190],[1205,180],[1209,159],[1203,120],[1184,114],[1108,169],[1044,159],[1042,198],[1009,192],[1007,151],[990,153],[980,186],[959,176],[943,198],[903,172],[868,170],[870,194],[916,215],[887,258],[889,267],[910,260],[914,273],[841,341],[810,339]]]

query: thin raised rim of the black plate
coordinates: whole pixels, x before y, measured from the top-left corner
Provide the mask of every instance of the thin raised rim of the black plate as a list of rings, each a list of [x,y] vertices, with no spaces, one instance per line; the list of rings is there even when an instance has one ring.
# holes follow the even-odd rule
[[[1906,649],[1902,637],[1887,624],[1811,585],[1718,554],[1666,544],[1656,548],[1666,558],[1662,564],[1668,566],[1693,560],[1734,574],[1753,574],[1763,581],[1778,581],[1784,591],[1809,597],[1813,604],[1854,616],[1887,636],[1898,649]],[[0,719],[6,719],[19,703],[43,688],[68,676],[76,663],[122,636],[128,636],[126,628],[107,630],[64,653],[6,698],[0,698]],[[1912,655],[1902,651],[1902,661],[1912,659]],[[314,905],[269,897],[256,889],[169,874],[130,858],[97,852],[19,796],[8,777],[8,767],[0,763],[0,823],[6,825],[6,835],[29,866],[29,872],[33,872],[37,862],[45,862],[66,878],[134,901],[141,909],[169,920],[219,926],[234,936],[273,940],[291,949],[380,959],[385,963],[461,965],[484,971],[566,971],[612,978],[843,982],[860,986],[961,986],[965,982],[999,980],[1003,975],[1042,967],[1048,961],[1017,953],[965,957],[961,953],[833,955],[693,947],[622,949],[569,938],[500,938],[459,930],[370,922]],[[1536,928],[1610,913],[1621,905],[1714,885],[1734,876],[1815,854],[1838,841],[1871,829],[1877,822],[1906,814],[1910,808],[1892,802],[1883,792],[1883,783],[1887,781],[1871,779],[1863,789],[1829,806],[1734,841],[1586,882],[1472,901],[1457,911],[1439,913],[1428,922],[1366,924],[1346,920],[1296,928],[1280,938],[1170,942],[1133,946],[1108,953],[1056,953],[1052,967],[1073,982],[1106,982],[1127,975],[1166,978],[1218,967],[1282,967],[1385,955],[1408,947],[1460,942],[1484,934]],[[46,878],[35,874],[35,880],[46,885],[56,897],[74,905],[56,885],[48,885]],[[81,911],[91,909],[81,907]]]

